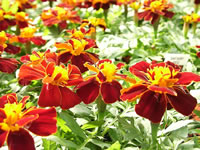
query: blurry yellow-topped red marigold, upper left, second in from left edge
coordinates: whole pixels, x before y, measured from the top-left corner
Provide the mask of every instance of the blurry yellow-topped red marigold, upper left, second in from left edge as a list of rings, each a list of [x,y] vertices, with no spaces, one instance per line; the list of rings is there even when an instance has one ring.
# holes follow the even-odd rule
[[[21,29],[21,33],[17,37],[17,41],[20,43],[28,43],[31,41],[35,45],[44,45],[46,41],[43,40],[41,36],[34,36],[36,30],[37,30],[36,28],[30,28],[30,27]]]

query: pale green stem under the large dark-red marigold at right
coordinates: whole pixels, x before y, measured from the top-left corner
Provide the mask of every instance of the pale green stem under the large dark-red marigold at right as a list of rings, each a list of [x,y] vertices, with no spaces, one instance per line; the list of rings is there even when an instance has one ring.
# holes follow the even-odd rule
[[[157,147],[157,133],[158,133],[159,123],[151,122],[151,136],[152,136],[152,149],[156,149]]]

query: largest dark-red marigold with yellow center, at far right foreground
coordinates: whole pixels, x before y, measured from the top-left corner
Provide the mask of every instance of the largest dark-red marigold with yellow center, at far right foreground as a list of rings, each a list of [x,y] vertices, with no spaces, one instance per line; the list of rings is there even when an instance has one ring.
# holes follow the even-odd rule
[[[191,72],[180,72],[180,67],[172,62],[139,62],[130,67],[130,72],[141,79],[140,82],[123,89],[121,99],[134,101],[140,98],[135,111],[138,115],[159,123],[168,106],[183,115],[190,115],[197,101],[187,91],[192,81],[200,81],[200,76]]]

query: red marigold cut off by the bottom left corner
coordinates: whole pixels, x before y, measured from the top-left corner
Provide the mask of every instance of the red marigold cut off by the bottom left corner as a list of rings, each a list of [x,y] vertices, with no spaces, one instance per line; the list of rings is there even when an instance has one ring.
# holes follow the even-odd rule
[[[35,150],[33,138],[28,131],[39,136],[49,136],[56,132],[55,108],[25,109],[28,99],[29,96],[25,96],[18,102],[15,93],[0,97],[0,147],[7,141],[9,150]]]

